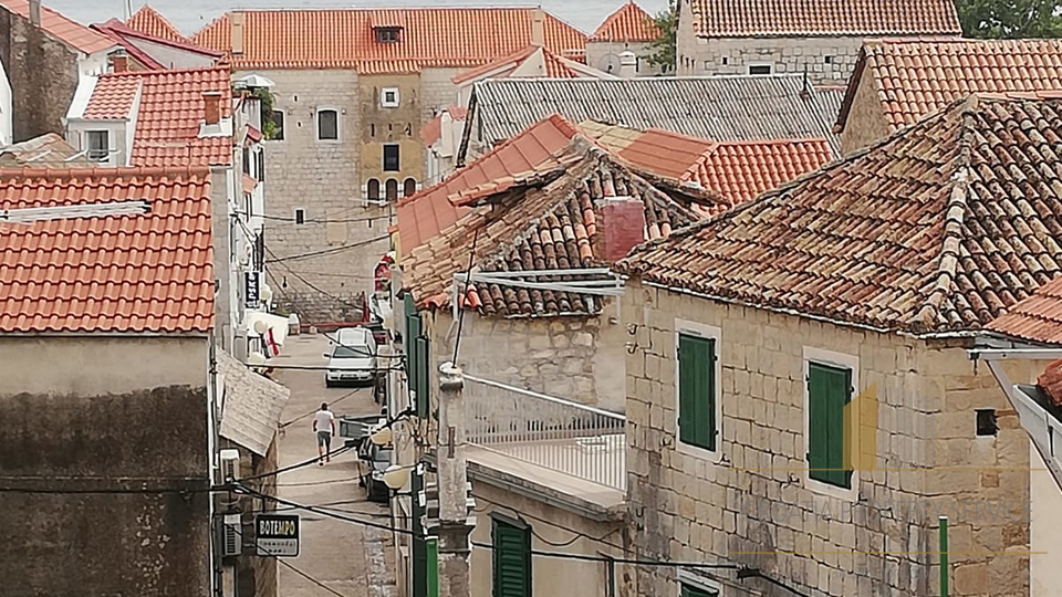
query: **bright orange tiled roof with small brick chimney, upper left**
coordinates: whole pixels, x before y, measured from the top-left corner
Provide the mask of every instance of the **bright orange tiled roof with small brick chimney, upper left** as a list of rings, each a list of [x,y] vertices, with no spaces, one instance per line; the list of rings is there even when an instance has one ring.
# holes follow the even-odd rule
[[[86,118],[124,118],[140,88],[131,164],[206,166],[232,163],[232,136],[200,137],[204,92],[221,94],[221,116],[231,116],[229,69],[187,69],[101,75],[85,108]]]

